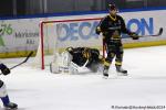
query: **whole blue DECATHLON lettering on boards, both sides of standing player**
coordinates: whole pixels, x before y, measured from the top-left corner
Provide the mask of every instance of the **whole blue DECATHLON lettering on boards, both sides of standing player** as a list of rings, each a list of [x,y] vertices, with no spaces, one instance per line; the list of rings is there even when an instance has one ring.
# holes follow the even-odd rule
[[[95,34],[95,29],[100,20],[80,21],[60,24],[61,32],[59,40],[64,41],[77,41],[77,40],[90,40],[98,38]],[[154,34],[154,20],[153,18],[142,19],[129,19],[126,22],[128,30],[138,33],[139,35]],[[127,37],[127,36],[125,36]]]

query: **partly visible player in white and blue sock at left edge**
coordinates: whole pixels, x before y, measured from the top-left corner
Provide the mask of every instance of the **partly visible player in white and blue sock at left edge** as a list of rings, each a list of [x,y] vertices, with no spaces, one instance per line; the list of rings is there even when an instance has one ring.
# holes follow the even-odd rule
[[[10,69],[4,65],[0,64],[0,69],[3,75],[10,74]],[[2,80],[0,80],[0,98],[6,109],[17,109],[18,105],[10,102],[10,99],[7,94],[6,85]]]

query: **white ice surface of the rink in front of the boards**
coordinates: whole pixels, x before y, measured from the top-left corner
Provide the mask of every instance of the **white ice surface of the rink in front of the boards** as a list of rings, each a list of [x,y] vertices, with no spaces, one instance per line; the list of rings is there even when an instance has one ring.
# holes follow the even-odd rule
[[[124,50],[123,68],[128,70],[128,76],[117,76],[113,62],[108,79],[102,78],[102,73],[51,74],[49,69],[30,67],[32,59],[12,69],[10,75],[0,76],[11,101],[24,110],[166,106],[166,46]],[[1,62],[11,67],[20,61],[22,58]]]

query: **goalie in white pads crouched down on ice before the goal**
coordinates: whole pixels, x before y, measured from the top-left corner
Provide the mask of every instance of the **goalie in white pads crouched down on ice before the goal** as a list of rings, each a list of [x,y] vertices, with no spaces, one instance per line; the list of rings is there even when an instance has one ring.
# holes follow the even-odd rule
[[[103,67],[103,57],[100,51],[90,47],[68,47],[63,53],[54,56],[51,63],[51,73],[77,74],[79,69],[87,68],[96,73]]]

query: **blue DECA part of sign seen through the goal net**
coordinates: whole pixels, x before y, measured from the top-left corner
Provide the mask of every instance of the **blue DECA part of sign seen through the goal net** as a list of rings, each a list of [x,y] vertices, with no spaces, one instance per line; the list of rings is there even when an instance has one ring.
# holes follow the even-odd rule
[[[98,22],[95,20],[60,24],[59,28],[61,28],[61,31],[59,34],[59,40],[77,41],[79,38],[98,38],[98,35],[95,34],[95,28]]]

